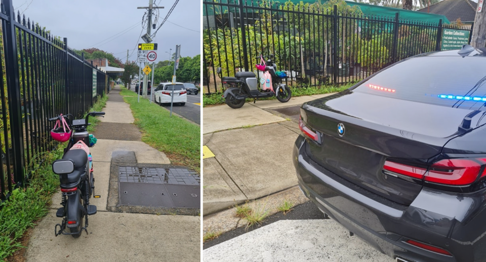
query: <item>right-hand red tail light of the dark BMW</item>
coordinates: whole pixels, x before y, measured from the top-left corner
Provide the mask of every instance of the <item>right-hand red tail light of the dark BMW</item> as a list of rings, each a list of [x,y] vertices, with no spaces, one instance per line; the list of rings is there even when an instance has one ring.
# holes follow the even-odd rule
[[[468,185],[479,176],[486,159],[456,158],[439,160],[428,168],[416,167],[385,161],[384,170],[397,174],[424,179],[425,181],[446,185]],[[481,177],[486,176],[486,170]]]

